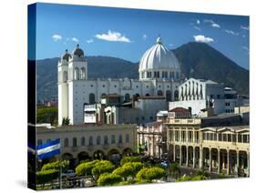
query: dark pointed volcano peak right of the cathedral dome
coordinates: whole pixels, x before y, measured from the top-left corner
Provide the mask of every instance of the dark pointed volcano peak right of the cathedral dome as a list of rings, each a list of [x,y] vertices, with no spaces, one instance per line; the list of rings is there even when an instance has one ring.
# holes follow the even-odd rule
[[[190,42],[173,50],[183,76],[210,79],[249,94],[249,71],[205,43]]]

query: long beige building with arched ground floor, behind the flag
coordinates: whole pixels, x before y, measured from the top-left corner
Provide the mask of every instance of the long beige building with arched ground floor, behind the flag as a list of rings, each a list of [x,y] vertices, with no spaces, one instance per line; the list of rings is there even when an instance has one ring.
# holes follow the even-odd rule
[[[137,152],[135,125],[36,127],[37,145],[60,138],[63,159],[74,165],[87,158],[114,159]]]

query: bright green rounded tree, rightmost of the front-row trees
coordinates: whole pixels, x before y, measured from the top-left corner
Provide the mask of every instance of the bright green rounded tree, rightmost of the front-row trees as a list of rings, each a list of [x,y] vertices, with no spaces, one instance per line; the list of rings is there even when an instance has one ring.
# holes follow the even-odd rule
[[[142,168],[138,171],[136,178],[138,180],[147,180],[152,182],[153,179],[160,179],[166,177],[166,171],[163,168]]]

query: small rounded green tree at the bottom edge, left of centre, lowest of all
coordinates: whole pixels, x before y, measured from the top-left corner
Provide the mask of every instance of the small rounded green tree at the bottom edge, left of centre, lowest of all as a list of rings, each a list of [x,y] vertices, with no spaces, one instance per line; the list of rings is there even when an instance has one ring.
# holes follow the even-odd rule
[[[118,185],[122,181],[122,178],[117,174],[105,173],[101,174],[97,179],[98,186],[112,186]]]

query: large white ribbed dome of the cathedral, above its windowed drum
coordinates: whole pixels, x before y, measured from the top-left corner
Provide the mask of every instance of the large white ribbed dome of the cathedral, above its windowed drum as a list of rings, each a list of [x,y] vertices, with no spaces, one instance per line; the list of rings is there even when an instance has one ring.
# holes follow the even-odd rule
[[[138,71],[148,70],[179,70],[177,57],[163,46],[160,37],[157,39],[157,44],[151,46],[140,59]]]

